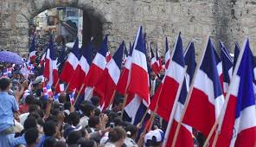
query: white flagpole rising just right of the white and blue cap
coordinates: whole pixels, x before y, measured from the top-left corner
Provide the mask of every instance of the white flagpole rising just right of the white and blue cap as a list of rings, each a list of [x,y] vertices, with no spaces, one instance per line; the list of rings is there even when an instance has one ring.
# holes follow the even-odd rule
[[[178,100],[180,98],[180,95],[182,93],[182,86],[183,86],[183,83],[184,83],[184,80],[186,79],[186,74],[187,74],[187,69],[188,69],[188,66],[185,66],[184,67],[184,70],[183,70],[183,73],[182,73],[182,84],[179,86],[178,88],[178,91],[176,93],[176,98],[175,98],[175,101],[174,101],[174,104],[173,104],[173,107],[172,107],[172,110],[170,112],[170,118],[169,118],[169,122],[170,122],[170,125],[167,125],[167,129],[166,129],[166,138],[169,137],[169,133],[170,133],[170,129],[171,129],[171,125],[173,123],[173,120],[174,120],[174,117],[175,117],[175,112],[176,112],[176,107],[178,105]],[[186,80],[185,80],[186,81]],[[175,144],[174,144],[175,145]],[[163,146],[166,146],[166,141],[163,143]]]

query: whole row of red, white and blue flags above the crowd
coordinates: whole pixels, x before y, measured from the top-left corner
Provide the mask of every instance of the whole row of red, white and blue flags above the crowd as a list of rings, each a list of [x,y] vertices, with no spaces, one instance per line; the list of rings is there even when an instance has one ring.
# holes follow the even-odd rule
[[[166,38],[166,72],[151,99],[142,27],[129,53],[122,42],[111,58],[107,55],[107,35],[94,58],[91,42],[81,52],[76,41],[60,78],[54,73],[57,71],[54,48],[49,43],[44,76],[51,86],[58,87],[59,79],[67,83],[73,102],[75,93],[84,94],[84,99],[97,94],[103,110],[112,104],[116,92],[125,95],[125,112],[134,125],[141,121],[147,108],[156,112],[169,123],[166,146],[193,146],[192,128],[205,137],[211,135],[208,144],[253,146],[256,140],[255,64],[249,41],[246,39],[241,49],[236,45],[234,60],[224,44],[220,44],[219,57],[208,38],[196,64],[193,42],[183,51],[179,34],[170,52]],[[162,62],[157,59],[158,54],[155,56],[150,50],[150,67],[158,74]],[[122,63],[125,65],[121,70]],[[216,128],[212,134],[213,127]]]

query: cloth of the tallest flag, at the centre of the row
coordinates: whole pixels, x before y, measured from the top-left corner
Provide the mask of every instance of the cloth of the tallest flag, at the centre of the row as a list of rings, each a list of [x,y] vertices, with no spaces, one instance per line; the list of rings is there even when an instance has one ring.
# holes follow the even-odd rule
[[[128,93],[138,94],[146,104],[150,104],[149,74],[142,31],[142,27],[139,27],[131,55],[130,83],[127,90]]]

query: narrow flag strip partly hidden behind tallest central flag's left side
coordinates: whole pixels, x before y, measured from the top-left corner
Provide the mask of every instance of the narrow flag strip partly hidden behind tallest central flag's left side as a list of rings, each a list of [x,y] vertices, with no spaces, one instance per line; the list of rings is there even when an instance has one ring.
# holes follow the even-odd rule
[[[126,92],[126,88],[128,86],[128,77],[129,77],[129,73],[131,70],[131,54],[132,54],[132,47],[130,46],[130,50],[129,50],[129,55],[126,58],[125,61],[125,67],[120,75],[120,78],[118,80],[118,85],[117,85],[117,91],[118,93],[121,93],[123,95],[125,95]]]

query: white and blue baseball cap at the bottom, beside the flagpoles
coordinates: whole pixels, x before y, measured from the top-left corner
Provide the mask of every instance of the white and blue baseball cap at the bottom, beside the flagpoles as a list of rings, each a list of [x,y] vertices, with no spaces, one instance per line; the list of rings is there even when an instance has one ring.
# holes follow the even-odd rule
[[[164,139],[164,132],[160,129],[149,131],[144,137],[144,143],[162,143]]]

